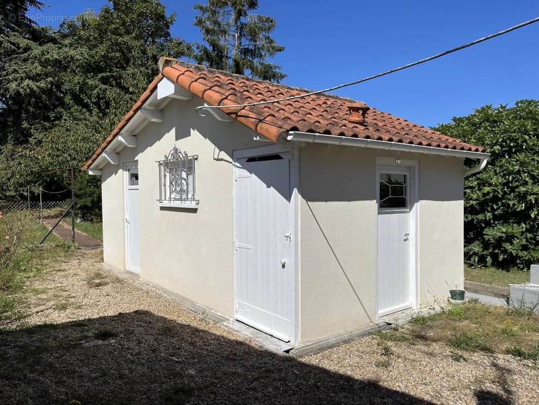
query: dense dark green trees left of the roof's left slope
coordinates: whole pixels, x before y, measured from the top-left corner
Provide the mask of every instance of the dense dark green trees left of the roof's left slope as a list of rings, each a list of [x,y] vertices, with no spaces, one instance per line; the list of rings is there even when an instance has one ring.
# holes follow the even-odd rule
[[[68,172],[46,173],[92,155],[157,75],[158,57],[191,55],[170,35],[175,18],[158,0],[112,0],[58,30],[37,27],[40,36],[9,32],[0,44],[0,184],[65,188]]]

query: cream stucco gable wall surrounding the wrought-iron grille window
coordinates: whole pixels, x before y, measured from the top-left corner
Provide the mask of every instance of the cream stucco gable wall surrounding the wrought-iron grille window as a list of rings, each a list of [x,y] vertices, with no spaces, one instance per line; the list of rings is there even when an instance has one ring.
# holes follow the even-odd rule
[[[172,100],[163,123],[149,123],[137,134],[137,147],[120,152],[120,161],[138,160],[141,278],[219,311],[233,315],[232,151],[267,143],[237,122],[201,117],[202,100]],[[156,160],[172,146],[198,154],[199,208],[160,208]],[[103,170],[103,244],[105,262],[125,268],[122,165]]]

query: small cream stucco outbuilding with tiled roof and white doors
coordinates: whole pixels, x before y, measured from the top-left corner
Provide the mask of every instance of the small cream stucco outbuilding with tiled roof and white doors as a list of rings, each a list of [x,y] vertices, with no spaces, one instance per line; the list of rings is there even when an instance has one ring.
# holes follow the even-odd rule
[[[463,284],[464,159],[488,154],[363,103],[160,60],[86,163],[104,260],[291,346]]]

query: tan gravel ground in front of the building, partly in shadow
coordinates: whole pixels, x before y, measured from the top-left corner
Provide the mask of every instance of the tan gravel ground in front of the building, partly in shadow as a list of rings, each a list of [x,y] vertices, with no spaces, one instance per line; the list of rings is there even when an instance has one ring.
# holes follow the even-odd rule
[[[302,359],[267,352],[119,280],[101,254],[51,264],[29,316],[0,325],[0,403],[539,403],[539,369],[509,355],[376,336]]]

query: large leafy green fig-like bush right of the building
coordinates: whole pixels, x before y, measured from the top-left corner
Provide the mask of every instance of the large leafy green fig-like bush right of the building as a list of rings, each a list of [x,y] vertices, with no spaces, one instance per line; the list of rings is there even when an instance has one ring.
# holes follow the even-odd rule
[[[465,182],[468,264],[528,267],[539,261],[539,100],[486,105],[435,130],[490,153]],[[475,163],[473,163],[475,164]]]

